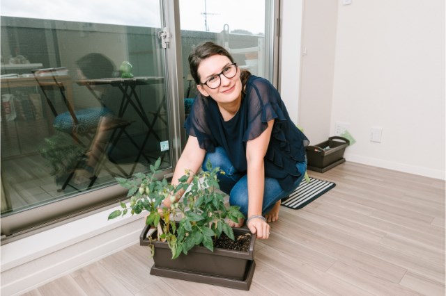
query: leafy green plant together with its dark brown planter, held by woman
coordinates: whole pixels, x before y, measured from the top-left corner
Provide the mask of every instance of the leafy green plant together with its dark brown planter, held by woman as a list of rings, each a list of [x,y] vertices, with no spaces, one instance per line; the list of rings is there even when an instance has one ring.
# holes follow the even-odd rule
[[[130,179],[116,178],[128,189],[130,202],[109,214],[109,219],[147,211],[140,245],[151,247],[154,265],[151,274],[188,281],[249,290],[254,274],[256,236],[247,228],[231,228],[226,219],[243,218],[238,206],[226,207],[219,190],[220,168],[207,163],[207,170],[193,176],[185,172],[178,186],[167,179],[157,180],[161,160],[146,174]],[[176,202],[174,195],[185,190]],[[162,201],[171,196],[171,206]]]

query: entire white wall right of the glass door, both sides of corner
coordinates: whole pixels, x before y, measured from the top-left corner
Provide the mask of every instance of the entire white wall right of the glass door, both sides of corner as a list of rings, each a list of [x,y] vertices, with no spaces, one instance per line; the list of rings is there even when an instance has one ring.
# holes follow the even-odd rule
[[[445,1],[282,5],[279,90],[312,144],[347,122],[357,140],[347,161],[445,179]],[[380,143],[369,140],[371,126],[383,128]]]

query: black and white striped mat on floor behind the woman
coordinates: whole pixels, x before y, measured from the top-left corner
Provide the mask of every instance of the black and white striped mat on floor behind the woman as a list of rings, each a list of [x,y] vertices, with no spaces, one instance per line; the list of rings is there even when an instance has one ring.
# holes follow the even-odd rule
[[[296,188],[289,197],[282,199],[282,206],[294,208],[295,210],[303,208],[310,202],[313,202],[314,199],[320,197],[336,186],[333,182],[323,181],[316,178],[310,178],[309,180],[310,182],[307,183],[307,181],[303,179],[299,187]]]

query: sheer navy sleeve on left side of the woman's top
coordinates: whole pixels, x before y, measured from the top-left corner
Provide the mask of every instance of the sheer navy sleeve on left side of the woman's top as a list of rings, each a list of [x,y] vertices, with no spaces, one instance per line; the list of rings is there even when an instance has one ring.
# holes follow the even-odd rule
[[[216,145],[208,124],[208,116],[210,115],[208,104],[209,101],[198,94],[194,99],[194,104],[184,126],[187,134],[197,137],[201,149],[213,152]]]

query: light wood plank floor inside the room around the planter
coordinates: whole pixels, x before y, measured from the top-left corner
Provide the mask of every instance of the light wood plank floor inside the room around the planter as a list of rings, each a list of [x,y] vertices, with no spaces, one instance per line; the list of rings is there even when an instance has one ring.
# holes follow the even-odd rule
[[[445,181],[344,163],[310,176],[336,187],[282,206],[256,242],[252,295],[445,295]],[[134,245],[26,295],[245,295],[149,274]]]

